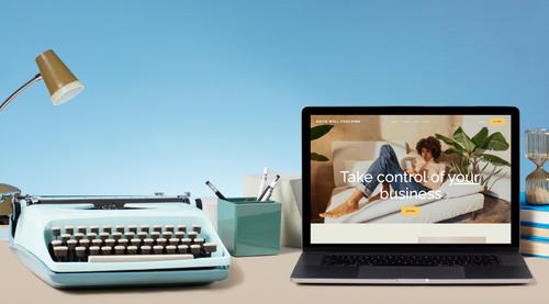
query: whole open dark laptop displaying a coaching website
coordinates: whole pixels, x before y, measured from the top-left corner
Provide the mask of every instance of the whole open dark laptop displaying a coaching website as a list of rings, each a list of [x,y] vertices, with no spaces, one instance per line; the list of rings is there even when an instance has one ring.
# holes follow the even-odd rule
[[[298,283],[518,284],[518,109],[305,108]]]

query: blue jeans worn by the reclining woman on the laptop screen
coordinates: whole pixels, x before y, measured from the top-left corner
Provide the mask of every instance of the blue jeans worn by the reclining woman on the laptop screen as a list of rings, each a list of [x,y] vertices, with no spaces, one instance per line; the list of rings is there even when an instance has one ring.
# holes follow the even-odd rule
[[[411,177],[406,177],[406,180],[404,179],[404,170],[402,170],[399,159],[396,158],[396,154],[390,145],[381,146],[378,159],[372,162],[365,177],[368,174],[371,174],[371,179],[369,181],[365,179],[359,183],[360,190],[362,190],[367,198],[372,194],[380,183],[378,180],[380,174],[385,177],[381,181],[388,180],[393,190],[400,193],[400,195],[405,195],[405,193],[423,193],[430,191],[429,188],[416,182]]]

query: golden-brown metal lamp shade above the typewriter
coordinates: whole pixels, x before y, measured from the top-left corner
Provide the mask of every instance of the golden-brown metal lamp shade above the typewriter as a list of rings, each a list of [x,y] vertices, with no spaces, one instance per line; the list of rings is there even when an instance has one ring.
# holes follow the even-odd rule
[[[82,83],[52,49],[40,54],[36,65],[55,105],[69,101],[82,91]]]

